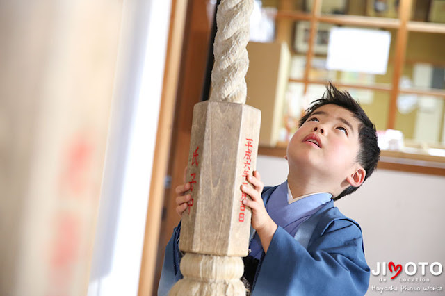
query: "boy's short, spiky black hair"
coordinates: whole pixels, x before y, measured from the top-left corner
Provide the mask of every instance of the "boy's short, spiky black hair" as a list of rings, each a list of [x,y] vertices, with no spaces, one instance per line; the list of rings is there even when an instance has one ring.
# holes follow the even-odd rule
[[[364,180],[369,178],[377,163],[380,159],[380,148],[377,145],[377,134],[375,133],[375,125],[369,120],[369,117],[364,113],[362,107],[350,96],[349,92],[337,90],[335,86],[330,82],[326,86],[326,91],[321,99],[317,99],[312,102],[312,106],[306,110],[306,113],[301,117],[298,127],[302,126],[309,118],[309,116],[314,113],[314,111],[321,106],[327,104],[334,104],[349,110],[353,113],[354,117],[359,120],[359,154],[357,155],[357,162],[362,165],[366,171]],[[350,195],[358,187],[349,186],[343,192],[341,192],[337,197],[332,197],[333,200],[340,199],[345,195]]]

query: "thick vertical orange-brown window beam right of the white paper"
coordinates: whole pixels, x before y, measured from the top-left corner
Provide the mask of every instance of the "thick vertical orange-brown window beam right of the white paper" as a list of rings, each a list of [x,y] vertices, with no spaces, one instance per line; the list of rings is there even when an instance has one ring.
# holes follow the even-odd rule
[[[400,88],[400,78],[403,73],[403,64],[405,63],[405,54],[407,47],[408,31],[407,22],[410,19],[412,0],[401,0],[398,14],[400,18],[400,28],[397,32],[396,51],[394,52],[394,73],[392,76],[391,100],[389,101],[388,129],[394,129],[396,126],[397,97]]]

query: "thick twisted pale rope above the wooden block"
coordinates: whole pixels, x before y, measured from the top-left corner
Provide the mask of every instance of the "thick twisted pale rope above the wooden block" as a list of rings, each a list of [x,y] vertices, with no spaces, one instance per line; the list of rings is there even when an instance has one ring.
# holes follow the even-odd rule
[[[245,46],[249,42],[252,10],[253,0],[221,0],[218,6],[211,101],[245,103],[247,87],[244,77],[249,67]]]

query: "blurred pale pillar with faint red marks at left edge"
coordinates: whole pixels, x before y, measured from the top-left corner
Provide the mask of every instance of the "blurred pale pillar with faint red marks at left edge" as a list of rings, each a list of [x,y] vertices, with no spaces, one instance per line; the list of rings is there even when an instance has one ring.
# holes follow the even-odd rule
[[[13,188],[0,204],[0,294],[85,295],[122,1],[0,1],[0,10],[0,154],[12,159]]]

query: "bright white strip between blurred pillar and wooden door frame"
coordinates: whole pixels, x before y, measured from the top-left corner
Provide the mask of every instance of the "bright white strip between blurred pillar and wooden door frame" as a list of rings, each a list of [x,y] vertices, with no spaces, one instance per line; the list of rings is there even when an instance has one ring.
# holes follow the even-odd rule
[[[88,295],[137,295],[171,1],[124,1]]]

